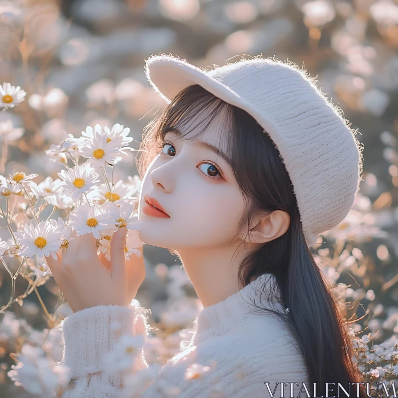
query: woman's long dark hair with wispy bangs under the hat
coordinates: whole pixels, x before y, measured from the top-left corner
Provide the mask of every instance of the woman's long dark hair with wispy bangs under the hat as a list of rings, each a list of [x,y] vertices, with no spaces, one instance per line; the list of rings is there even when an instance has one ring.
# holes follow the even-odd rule
[[[204,110],[208,110],[208,123],[189,139],[201,136],[213,118],[222,110],[226,111],[231,128],[230,134],[223,137],[228,140],[227,156],[247,200],[239,228],[252,225],[256,211],[268,214],[280,209],[290,215],[289,229],[284,235],[249,252],[244,258],[239,268],[240,284],[244,287],[265,273],[276,277],[281,304],[288,307],[289,312],[264,310],[279,316],[295,336],[306,365],[308,382],[317,383],[320,396],[326,393],[325,383],[341,383],[346,390],[348,383],[363,383],[363,376],[353,363],[353,348],[346,324],[331,293],[332,284],[323,277],[305,243],[289,174],[277,147],[250,114],[199,85],[185,88],[145,126],[137,159],[139,173],[143,176],[156,156],[157,143],[163,140],[167,127],[178,124],[183,130],[181,126]],[[184,136],[195,127],[191,125],[189,130],[184,129]],[[356,386],[351,386],[350,397],[356,397],[356,390]],[[360,391],[364,396],[362,388]]]

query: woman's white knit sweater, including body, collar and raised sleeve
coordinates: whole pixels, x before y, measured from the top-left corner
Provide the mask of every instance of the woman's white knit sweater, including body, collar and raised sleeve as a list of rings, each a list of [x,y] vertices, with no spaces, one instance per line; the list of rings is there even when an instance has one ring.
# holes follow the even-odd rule
[[[254,299],[256,305],[285,313],[276,301],[267,300],[274,281],[273,275],[264,274],[202,309],[188,348],[167,361],[142,395],[123,388],[117,372],[103,372],[104,355],[120,334],[148,335],[149,325],[139,302],[135,299],[129,307],[100,305],[68,316],[61,323],[65,343],[62,363],[71,368],[75,382],[62,398],[264,398],[272,396],[267,382],[271,392],[276,388],[274,397],[289,397],[291,386],[297,397],[301,384],[308,380],[295,339],[275,314],[249,312]],[[263,284],[265,292],[258,289]],[[121,331],[110,327],[113,321],[119,322]],[[209,366],[210,371],[199,378],[186,378],[186,369],[195,363]],[[147,367],[141,350],[131,373]],[[297,384],[285,385],[281,394],[281,383]]]

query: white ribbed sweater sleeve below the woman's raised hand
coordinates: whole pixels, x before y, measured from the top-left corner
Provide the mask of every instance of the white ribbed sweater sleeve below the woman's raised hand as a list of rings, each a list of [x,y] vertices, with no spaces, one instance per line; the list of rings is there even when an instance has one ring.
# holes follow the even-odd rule
[[[142,310],[138,300],[133,300],[129,307],[100,305],[86,308],[61,322],[62,363],[70,368],[72,380],[62,398],[120,397],[121,375],[109,372],[106,354],[113,350],[122,335],[147,337],[146,326],[142,327],[146,325]],[[131,372],[147,367],[141,349]]]

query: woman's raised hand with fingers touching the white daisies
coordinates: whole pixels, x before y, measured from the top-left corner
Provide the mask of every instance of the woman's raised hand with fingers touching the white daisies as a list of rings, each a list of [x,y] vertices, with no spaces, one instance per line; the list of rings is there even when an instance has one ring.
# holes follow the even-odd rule
[[[120,228],[110,240],[110,262],[97,254],[96,238],[87,233],[69,242],[58,260],[46,257],[55,282],[73,312],[96,305],[130,304],[145,279],[144,256],[124,259],[127,229]],[[101,261],[102,260],[102,261]]]

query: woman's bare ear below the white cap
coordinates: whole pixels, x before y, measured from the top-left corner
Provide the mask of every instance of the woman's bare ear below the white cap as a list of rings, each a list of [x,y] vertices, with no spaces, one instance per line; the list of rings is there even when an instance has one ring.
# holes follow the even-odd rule
[[[284,210],[275,210],[257,218],[256,225],[250,229],[245,241],[248,243],[266,243],[279,238],[289,228],[290,215]]]

